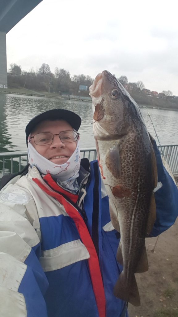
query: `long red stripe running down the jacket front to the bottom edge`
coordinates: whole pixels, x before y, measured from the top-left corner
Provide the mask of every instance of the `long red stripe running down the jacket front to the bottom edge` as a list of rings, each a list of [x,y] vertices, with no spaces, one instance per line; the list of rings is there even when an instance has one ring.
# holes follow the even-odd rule
[[[67,214],[73,219],[79,232],[79,235],[81,237],[81,240],[90,254],[90,258],[88,259],[88,265],[92,280],[93,292],[95,294],[95,299],[98,307],[99,317],[105,317],[106,300],[103,280],[99,267],[99,259],[92,238],[83,218],[79,214],[79,211],[72,204],[70,204],[62,195],[52,191],[50,188],[48,189],[45,185],[43,185],[40,182],[39,179],[32,179],[46,194],[56,198],[60,202],[60,204],[64,206]],[[66,191],[65,194],[68,194],[68,192]]]

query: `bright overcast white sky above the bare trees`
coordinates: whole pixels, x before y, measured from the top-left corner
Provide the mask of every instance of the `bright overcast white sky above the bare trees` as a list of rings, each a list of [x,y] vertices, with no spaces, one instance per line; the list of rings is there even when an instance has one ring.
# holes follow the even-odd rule
[[[43,0],[7,34],[7,68],[107,69],[178,96],[177,12],[175,0]]]

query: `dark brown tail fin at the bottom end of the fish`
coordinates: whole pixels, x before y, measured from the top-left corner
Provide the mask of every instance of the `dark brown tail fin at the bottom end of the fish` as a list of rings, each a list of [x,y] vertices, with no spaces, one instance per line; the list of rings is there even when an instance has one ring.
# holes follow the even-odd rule
[[[124,271],[119,275],[118,281],[114,287],[114,296],[123,301],[127,301],[134,306],[140,306],[140,295],[134,274],[129,283],[126,280]]]

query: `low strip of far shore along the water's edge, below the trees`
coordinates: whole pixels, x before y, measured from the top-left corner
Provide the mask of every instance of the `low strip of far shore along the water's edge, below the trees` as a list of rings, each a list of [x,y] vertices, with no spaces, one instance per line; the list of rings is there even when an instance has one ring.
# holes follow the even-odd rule
[[[69,94],[56,94],[56,93],[44,93],[44,92],[36,92],[34,90],[29,90],[29,89],[25,89],[25,88],[7,88],[7,90],[0,88],[0,93],[3,94],[16,94],[16,95],[25,95],[25,96],[34,96],[34,97],[43,97],[43,98],[54,98],[54,99],[68,99],[68,100],[78,100],[78,101],[88,101],[88,102],[92,102],[91,99],[88,99],[88,97],[86,96],[73,96],[73,95],[69,95]],[[152,106],[152,105],[148,105],[148,104],[140,104],[136,98],[134,99],[138,106],[141,108],[152,108],[152,109],[161,109],[161,110],[171,110],[171,111],[178,111],[178,108],[167,108],[167,107],[156,107],[156,106]]]

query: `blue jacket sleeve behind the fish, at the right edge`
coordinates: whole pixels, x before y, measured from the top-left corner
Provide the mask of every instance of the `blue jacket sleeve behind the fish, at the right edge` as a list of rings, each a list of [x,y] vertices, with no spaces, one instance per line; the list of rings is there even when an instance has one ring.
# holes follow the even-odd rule
[[[156,155],[158,185],[155,190],[156,221],[150,236],[158,236],[172,226],[178,216],[178,188],[167,163],[163,164],[164,160],[155,140],[153,148]]]

